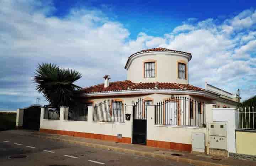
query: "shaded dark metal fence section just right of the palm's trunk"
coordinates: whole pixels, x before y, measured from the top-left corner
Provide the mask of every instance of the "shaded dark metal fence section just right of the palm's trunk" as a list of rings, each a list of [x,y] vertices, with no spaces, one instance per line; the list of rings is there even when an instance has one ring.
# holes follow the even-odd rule
[[[87,121],[88,106],[79,105],[75,108],[66,108],[64,111],[64,120],[66,121]]]

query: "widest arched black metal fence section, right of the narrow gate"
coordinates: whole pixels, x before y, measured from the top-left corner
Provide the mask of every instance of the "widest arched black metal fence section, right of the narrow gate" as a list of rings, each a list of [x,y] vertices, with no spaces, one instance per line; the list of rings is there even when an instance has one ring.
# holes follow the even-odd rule
[[[206,127],[205,104],[189,97],[171,97],[155,105],[155,124]]]

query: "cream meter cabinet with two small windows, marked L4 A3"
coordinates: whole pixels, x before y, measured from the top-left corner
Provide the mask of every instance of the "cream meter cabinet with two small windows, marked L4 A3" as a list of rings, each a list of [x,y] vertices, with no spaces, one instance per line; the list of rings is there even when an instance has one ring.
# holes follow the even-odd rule
[[[226,124],[210,124],[210,148],[227,150]]]

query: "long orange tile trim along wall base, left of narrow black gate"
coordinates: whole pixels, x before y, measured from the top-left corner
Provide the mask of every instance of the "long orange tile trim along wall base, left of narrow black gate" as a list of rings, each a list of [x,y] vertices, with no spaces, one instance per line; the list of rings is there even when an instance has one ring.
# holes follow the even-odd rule
[[[131,143],[131,138],[123,137],[122,139],[117,139],[117,136],[113,136],[113,135],[71,132],[71,131],[65,131],[65,130],[51,130],[51,129],[40,129],[40,132],[49,133],[49,134],[70,135],[70,136],[91,138],[91,139],[101,139],[101,140],[127,143],[127,144]]]

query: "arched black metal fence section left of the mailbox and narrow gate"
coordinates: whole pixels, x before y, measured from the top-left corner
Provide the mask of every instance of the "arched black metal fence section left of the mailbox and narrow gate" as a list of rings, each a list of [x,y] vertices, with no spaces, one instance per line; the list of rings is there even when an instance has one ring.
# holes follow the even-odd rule
[[[94,106],[94,122],[125,122],[126,104],[122,101],[105,100]]]

